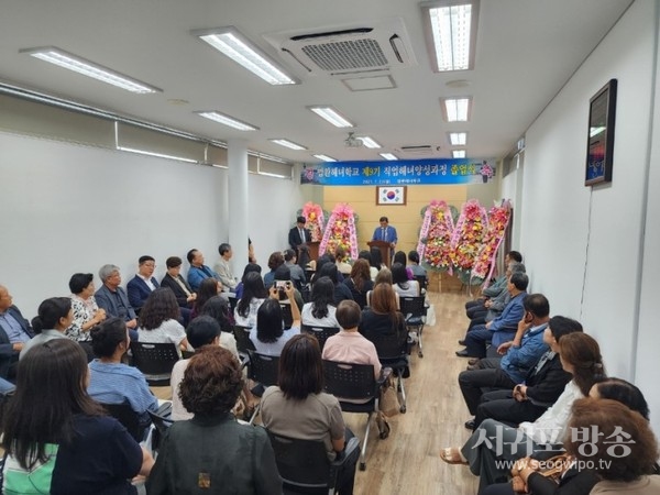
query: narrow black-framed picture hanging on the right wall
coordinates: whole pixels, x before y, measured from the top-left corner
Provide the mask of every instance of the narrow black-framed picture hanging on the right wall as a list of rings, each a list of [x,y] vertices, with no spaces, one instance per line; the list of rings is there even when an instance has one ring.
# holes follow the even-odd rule
[[[610,79],[588,101],[585,186],[612,182],[616,79]]]

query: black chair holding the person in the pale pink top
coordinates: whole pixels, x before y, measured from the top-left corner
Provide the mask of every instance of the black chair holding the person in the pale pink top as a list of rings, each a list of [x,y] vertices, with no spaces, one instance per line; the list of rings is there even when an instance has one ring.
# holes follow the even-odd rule
[[[392,370],[383,369],[380,378],[374,378],[374,366],[371,364],[340,363],[323,360],[326,375],[326,392],[339,399],[344,413],[362,413],[367,415],[364,440],[360,453],[360,471],[366,469],[366,443],[373,419],[378,417],[381,387],[389,377]],[[342,399],[365,399],[365,403],[349,403]],[[389,436],[389,425],[386,421],[377,425],[381,440]]]

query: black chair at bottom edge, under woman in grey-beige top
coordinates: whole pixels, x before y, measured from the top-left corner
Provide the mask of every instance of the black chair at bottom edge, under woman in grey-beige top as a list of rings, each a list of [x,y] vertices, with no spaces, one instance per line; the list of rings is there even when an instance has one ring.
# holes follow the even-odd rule
[[[330,462],[322,440],[300,440],[266,431],[275,451],[275,462],[285,494],[332,495],[338,474],[349,463],[354,465],[360,455],[360,440],[355,437],[350,439],[344,451]]]

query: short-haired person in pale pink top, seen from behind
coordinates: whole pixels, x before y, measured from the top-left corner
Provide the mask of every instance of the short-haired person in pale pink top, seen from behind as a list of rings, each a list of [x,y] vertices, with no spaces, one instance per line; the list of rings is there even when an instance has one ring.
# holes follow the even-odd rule
[[[362,311],[354,300],[342,300],[336,318],[341,331],[330,337],[323,346],[323,359],[352,364],[372,364],[376,380],[381,375],[381,362],[374,344],[358,332]]]

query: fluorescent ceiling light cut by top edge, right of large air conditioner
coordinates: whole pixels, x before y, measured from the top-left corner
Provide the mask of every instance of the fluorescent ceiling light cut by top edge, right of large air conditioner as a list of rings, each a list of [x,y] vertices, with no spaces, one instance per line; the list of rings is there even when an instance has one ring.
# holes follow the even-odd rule
[[[422,3],[431,32],[436,70],[469,70],[474,67],[479,0]]]

